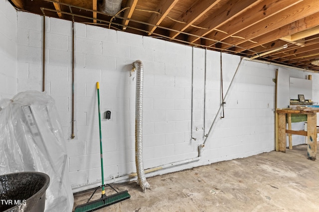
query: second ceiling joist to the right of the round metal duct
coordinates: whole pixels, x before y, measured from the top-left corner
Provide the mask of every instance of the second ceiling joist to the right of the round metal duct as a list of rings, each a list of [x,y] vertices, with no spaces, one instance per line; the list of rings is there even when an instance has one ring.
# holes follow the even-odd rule
[[[160,12],[158,13],[153,13],[148,20],[148,23],[152,24],[148,26],[148,35],[151,35],[152,32],[157,28],[157,25],[160,25],[160,23],[163,21],[163,19],[167,16],[169,11],[175,6],[175,4],[178,2],[178,0],[161,0],[160,3],[158,4],[158,7],[156,8],[155,11]],[[155,25],[155,26],[153,26]]]

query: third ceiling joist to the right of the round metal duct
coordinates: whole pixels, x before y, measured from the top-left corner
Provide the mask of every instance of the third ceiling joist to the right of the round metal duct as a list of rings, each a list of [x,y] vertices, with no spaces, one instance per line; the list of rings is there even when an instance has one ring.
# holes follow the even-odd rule
[[[198,18],[200,18],[203,14],[205,14],[208,10],[214,7],[217,3],[221,0],[198,0],[193,6],[187,9],[179,18],[178,20],[183,22],[176,22],[170,28],[174,29],[175,31],[169,32],[170,38],[175,38],[177,35],[180,34],[179,31],[184,31],[187,27],[193,24]]]

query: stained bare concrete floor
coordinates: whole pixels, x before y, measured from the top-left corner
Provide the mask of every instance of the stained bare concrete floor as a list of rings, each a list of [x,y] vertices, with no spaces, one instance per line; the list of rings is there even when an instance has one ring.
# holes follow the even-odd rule
[[[131,199],[98,212],[318,212],[319,161],[307,159],[307,145],[272,151],[147,179],[114,185]],[[101,197],[98,190],[95,198]],[[74,195],[74,207],[92,191]]]

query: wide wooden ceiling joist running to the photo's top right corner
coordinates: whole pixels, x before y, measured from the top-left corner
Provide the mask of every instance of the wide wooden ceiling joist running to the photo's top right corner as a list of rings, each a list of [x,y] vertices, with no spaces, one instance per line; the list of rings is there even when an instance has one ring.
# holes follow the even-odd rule
[[[237,32],[235,34],[236,37],[230,37],[224,39],[223,41],[226,43],[231,43],[233,45],[240,45],[247,40],[253,40],[258,36],[267,34],[269,31],[279,29],[301,18],[305,18],[307,16],[315,14],[316,12],[318,12],[318,7],[319,1],[314,2],[313,0],[304,0],[291,7],[286,7],[286,9],[284,10],[278,9],[281,11],[280,13],[276,13],[276,15],[273,15],[261,22],[258,22],[257,24],[245,28],[245,30]]]

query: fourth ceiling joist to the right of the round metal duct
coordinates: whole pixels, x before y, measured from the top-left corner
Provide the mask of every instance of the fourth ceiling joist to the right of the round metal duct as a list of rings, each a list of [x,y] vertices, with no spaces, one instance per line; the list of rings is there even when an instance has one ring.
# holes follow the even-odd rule
[[[195,28],[189,33],[204,37],[205,35],[218,29],[218,27],[223,26],[228,21],[234,20],[234,18],[251,9],[252,6],[255,6],[260,1],[262,0],[231,0],[218,9],[220,12],[217,12],[212,17],[208,17],[206,20],[201,22],[199,24],[202,27],[201,29]],[[198,39],[199,37],[197,36],[188,37],[188,41],[191,43],[194,43]]]

